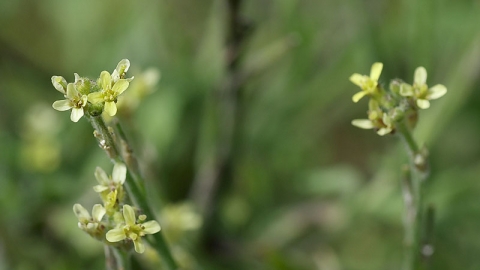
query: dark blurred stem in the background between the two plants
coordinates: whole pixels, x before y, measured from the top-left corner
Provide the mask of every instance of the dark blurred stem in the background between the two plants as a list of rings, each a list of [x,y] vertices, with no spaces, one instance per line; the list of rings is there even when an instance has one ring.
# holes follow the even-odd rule
[[[210,224],[218,214],[213,207],[220,199],[222,190],[232,182],[232,170],[237,146],[238,129],[241,127],[243,113],[242,87],[243,68],[240,60],[248,34],[248,24],[241,14],[243,0],[225,0],[227,4],[226,32],[226,74],[222,84],[215,93],[216,117],[218,117],[218,138],[211,160],[205,161],[198,168],[192,188],[192,199],[204,216],[207,231],[206,238],[214,235]],[[211,235],[208,235],[211,234]]]

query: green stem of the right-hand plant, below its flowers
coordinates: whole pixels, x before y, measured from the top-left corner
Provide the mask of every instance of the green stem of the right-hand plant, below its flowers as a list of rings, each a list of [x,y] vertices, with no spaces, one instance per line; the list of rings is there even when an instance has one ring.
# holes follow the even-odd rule
[[[409,166],[404,169],[403,198],[405,203],[405,257],[404,270],[415,269],[421,250],[422,192],[421,184],[427,174],[426,155],[405,123],[397,123],[397,130],[409,152]]]

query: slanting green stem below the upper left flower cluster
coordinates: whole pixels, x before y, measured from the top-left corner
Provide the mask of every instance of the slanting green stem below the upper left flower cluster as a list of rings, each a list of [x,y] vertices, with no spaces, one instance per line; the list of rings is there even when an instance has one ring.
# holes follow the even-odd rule
[[[145,215],[151,218],[155,218],[154,212],[152,211],[147,201],[146,194],[145,192],[142,192],[141,187],[143,186],[143,183],[137,183],[136,180],[139,179],[136,179],[136,175],[133,173],[134,169],[129,167],[129,163],[125,162],[125,160],[123,160],[124,157],[120,155],[121,152],[119,151],[119,147],[116,144],[115,138],[117,136],[114,133],[114,130],[107,128],[101,116],[86,115],[86,118],[90,121],[96,131],[95,137],[97,138],[100,147],[106,151],[112,163],[122,162],[128,167],[127,177],[125,180],[125,188],[134,204],[137,205],[140,209],[142,209]],[[124,143],[128,145],[126,141],[124,141]],[[153,235],[154,241],[150,239],[151,238],[147,238],[147,241],[149,241],[150,245],[157,250],[158,254],[162,257],[165,265],[167,266],[167,269],[178,269],[177,264],[173,259],[172,253],[170,252],[170,249],[167,245],[167,242],[163,237],[162,231]]]

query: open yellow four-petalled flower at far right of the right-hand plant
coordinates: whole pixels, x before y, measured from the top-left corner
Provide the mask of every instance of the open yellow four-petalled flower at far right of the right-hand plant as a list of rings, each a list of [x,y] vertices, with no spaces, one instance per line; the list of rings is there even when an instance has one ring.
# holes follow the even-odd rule
[[[428,88],[427,71],[424,67],[418,67],[414,74],[413,86],[402,83],[400,95],[404,97],[413,97],[415,103],[420,109],[428,109],[430,100],[438,99],[447,93],[447,88],[442,84],[437,84]]]

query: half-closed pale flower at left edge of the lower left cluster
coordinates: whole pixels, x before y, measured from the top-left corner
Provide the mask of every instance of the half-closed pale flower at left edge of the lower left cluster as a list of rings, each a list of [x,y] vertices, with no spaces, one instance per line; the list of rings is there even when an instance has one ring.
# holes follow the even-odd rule
[[[101,223],[105,215],[105,208],[100,204],[95,204],[92,208],[92,216],[81,204],[73,206],[73,212],[78,218],[78,227],[88,234],[98,237],[102,234],[105,226]]]

